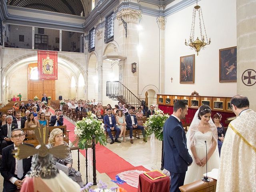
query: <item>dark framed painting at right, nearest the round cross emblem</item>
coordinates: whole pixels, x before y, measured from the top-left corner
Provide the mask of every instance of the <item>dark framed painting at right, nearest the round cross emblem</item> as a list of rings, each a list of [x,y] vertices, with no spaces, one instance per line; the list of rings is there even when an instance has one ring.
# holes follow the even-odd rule
[[[236,47],[230,47],[219,50],[220,60],[220,82],[236,82],[237,79],[237,62]]]

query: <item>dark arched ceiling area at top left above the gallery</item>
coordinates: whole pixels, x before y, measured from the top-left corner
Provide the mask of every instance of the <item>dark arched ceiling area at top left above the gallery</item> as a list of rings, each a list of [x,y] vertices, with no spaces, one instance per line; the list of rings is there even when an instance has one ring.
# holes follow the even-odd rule
[[[84,6],[86,12],[84,11]],[[46,10],[77,16],[87,16],[89,0],[7,0],[7,5]]]

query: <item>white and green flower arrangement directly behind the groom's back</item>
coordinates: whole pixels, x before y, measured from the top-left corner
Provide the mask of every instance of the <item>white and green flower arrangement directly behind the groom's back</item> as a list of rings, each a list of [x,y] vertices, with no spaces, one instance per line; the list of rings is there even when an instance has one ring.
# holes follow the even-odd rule
[[[156,138],[162,141],[164,123],[169,117],[170,116],[168,114],[164,114],[162,110],[155,110],[155,113],[150,115],[144,124],[147,135],[154,133]]]

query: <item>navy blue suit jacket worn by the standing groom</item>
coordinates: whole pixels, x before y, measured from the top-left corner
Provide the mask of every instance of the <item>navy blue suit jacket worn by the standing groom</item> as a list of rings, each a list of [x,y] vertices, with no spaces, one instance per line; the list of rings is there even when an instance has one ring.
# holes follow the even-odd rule
[[[174,116],[164,124],[164,168],[173,173],[185,173],[192,157],[188,153],[184,128]]]

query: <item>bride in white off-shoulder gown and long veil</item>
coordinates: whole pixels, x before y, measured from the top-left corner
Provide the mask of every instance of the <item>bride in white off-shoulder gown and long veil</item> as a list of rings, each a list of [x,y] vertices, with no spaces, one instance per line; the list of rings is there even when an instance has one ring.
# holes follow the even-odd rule
[[[188,167],[184,184],[200,180],[206,173],[206,144],[208,172],[214,168],[219,168],[218,134],[211,114],[210,107],[202,105],[197,110],[186,134],[188,152],[192,156],[193,162]]]

